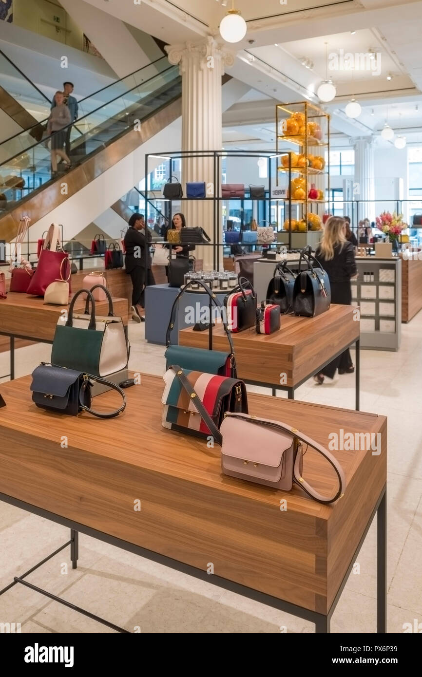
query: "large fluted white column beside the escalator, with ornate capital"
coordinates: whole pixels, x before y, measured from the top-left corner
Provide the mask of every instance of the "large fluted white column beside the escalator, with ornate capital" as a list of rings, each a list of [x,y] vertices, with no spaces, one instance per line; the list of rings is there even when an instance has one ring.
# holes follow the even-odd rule
[[[221,150],[221,77],[234,56],[211,36],[199,43],[166,47],[169,62],[180,64],[182,74],[182,150]],[[182,162],[182,184],[187,181],[214,183],[213,158],[192,158]],[[219,195],[218,185],[209,187],[207,197]],[[213,202],[183,202],[186,223],[202,226],[213,241]],[[221,242],[221,235],[220,235]],[[219,248],[221,250],[221,247]],[[197,247],[196,258],[205,270],[213,268],[213,248]],[[222,253],[219,261],[222,265]]]

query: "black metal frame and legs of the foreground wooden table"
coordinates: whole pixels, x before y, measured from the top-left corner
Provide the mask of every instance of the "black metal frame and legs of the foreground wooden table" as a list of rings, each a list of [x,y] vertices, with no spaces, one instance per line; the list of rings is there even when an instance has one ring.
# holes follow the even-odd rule
[[[269,607],[272,607],[274,609],[279,609],[280,611],[285,611],[286,613],[290,613],[291,615],[298,616],[299,618],[303,618],[307,621],[311,621],[312,623],[315,624],[315,632],[316,633],[329,633],[330,632],[330,621],[331,617],[335,611],[335,607],[337,606],[337,602],[339,601],[339,598],[341,596],[341,593],[343,592],[343,588],[347,582],[347,578],[350,575],[350,571],[352,571],[352,567],[354,563],[356,562],[356,558],[358,556],[358,553],[360,551],[360,548],[362,547],[362,544],[366,538],[366,534],[368,533],[369,527],[371,527],[371,524],[373,522],[373,519],[375,515],[377,515],[377,633],[378,634],[384,634],[387,632],[387,575],[386,575],[386,570],[387,570],[387,515],[386,515],[386,486],[384,485],[383,489],[381,490],[381,493],[379,494],[379,497],[377,498],[377,502],[375,504],[375,508],[371,514],[371,517],[368,520],[368,523],[366,524],[366,527],[364,529],[364,533],[362,534],[362,538],[360,539],[360,542],[358,544],[358,547],[356,548],[356,551],[354,552],[354,555],[352,557],[352,560],[350,561],[349,566],[347,567],[347,571],[345,573],[345,576],[343,577],[343,580],[341,581],[341,584],[339,586],[339,589],[337,590],[337,594],[335,596],[335,599],[333,600],[333,603],[329,609],[329,612],[327,614],[324,613],[318,613],[317,611],[312,611],[311,609],[305,609],[305,607],[300,607],[298,605],[295,605],[291,602],[287,602],[285,600],[279,599],[277,597],[274,597],[270,594],[266,594],[264,592],[260,592],[259,590],[255,590],[254,588],[249,588],[247,586],[244,586],[240,583],[236,583],[234,581],[231,581],[227,578],[222,578],[220,576],[216,575],[209,575],[207,571],[204,571],[203,569],[198,569],[197,567],[193,567],[192,565],[188,565],[184,562],[181,562],[179,560],[175,560],[171,557],[167,557],[163,554],[160,554],[159,552],[154,552],[153,550],[147,550],[146,548],[142,548],[142,546],[135,545],[133,543],[129,543],[127,541],[123,541],[120,538],[117,538],[116,536],[111,536],[108,533],[104,533],[102,531],[98,531],[97,529],[92,529],[91,527],[88,527],[87,525],[81,525],[73,520],[68,519],[67,517],[62,517],[60,515],[55,515],[54,512],[49,512],[48,510],[44,510],[43,508],[39,508],[37,506],[33,506],[29,503],[26,503],[18,498],[14,498],[12,496],[7,496],[7,494],[1,494],[0,493],[0,500],[2,500],[5,503],[8,503],[10,505],[14,505],[18,508],[21,508],[22,510],[26,510],[27,512],[32,512],[34,515],[39,515],[39,517],[43,517],[45,519],[49,519],[52,522],[55,522],[56,524],[60,524],[64,527],[70,528],[70,540],[66,542],[63,546],[52,552],[49,556],[45,557],[41,562],[39,562],[37,565],[26,571],[24,574],[20,576],[15,576],[14,580],[12,583],[10,583],[8,586],[3,588],[3,590],[0,590],[0,595],[9,590],[9,588],[12,588],[14,585],[17,583],[20,583],[22,585],[25,585],[26,587],[30,588],[31,590],[35,590],[36,592],[39,592],[40,594],[43,594],[50,599],[53,599],[56,602],[59,602],[60,604],[65,605],[66,607],[69,607],[70,609],[73,609],[74,611],[78,611],[79,613],[82,613],[83,615],[92,618],[93,620],[98,621],[99,623],[102,623],[103,625],[108,626],[108,628],[112,628],[113,630],[117,630],[117,632],[124,632],[128,633],[128,630],[125,630],[124,628],[119,628],[119,626],[115,626],[114,624],[110,623],[110,621],[106,621],[105,619],[101,618],[100,616],[96,616],[86,609],[82,609],[81,607],[78,607],[77,605],[73,605],[69,603],[67,600],[64,600],[61,597],[58,597],[51,592],[48,592],[47,590],[43,590],[43,588],[38,588],[37,586],[34,586],[33,584],[28,583],[27,581],[24,581],[24,578],[28,576],[32,571],[35,571],[35,569],[38,569],[43,565],[45,562],[47,562],[51,557],[56,555],[58,552],[66,548],[68,545],[70,545],[70,559],[72,561],[72,569],[77,568],[77,559],[79,556],[78,552],[78,547],[79,547],[79,532],[80,533],[85,533],[87,536],[91,536],[91,538],[96,538],[104,543],[108,543],[113,546],[117,546],[117,548],[122,548],[123,550],[127,550],[127,552],[132,552],[133,554],[138,554],[142,557],[145,557],[146,559],[149,559],[150,561],[162,564],[166,567],[170,567],[171,569],[175,569],[176,571],[182,571],[182,573],[186,573],[190,576],[193,576],[195,578],[198,578],[199,580],[206,581],[207,583],[211,583],[212,585],[219,586],[220,588],[224,588],[224,590],[230,590],[230,592],[235,592],[236,594],[240,594],[242,596],[245,596],[249,599],[253,599],[257,602],[260,602],[261,604],[266,604]]]

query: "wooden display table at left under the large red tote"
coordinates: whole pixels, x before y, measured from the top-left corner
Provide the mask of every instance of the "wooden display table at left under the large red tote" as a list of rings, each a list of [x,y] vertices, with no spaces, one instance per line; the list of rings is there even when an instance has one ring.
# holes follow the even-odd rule
[[[76,303],[76,310],[85,307],[85,301],[80,297]],[[68,306],[47,305],[44,299],[28,297],[26,294],[9,292],[7,299],[0,301],[0,336],[9,338],[10,373],[3,374],[15,378],[15,339],[37,341],[39,343],[53,343],[56,324],[60,312]],[[113,309],[116,315],[121,316],[123,324],[127,326],[127,300],[113,299]],[[108,301],[96,302],[96,314],[108,313]]]

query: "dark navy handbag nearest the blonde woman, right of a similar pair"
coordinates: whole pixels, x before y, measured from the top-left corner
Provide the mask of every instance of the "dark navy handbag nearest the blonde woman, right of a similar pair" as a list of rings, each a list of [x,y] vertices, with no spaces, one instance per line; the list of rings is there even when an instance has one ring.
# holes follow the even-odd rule
[[[302,271],[302,261],[307,263],[308,270]],[[312,256],[310,245],[301,250],[298,270],[299,273],[293,286],[293,312],[305,318],[315,318],[316,315],[329,309],[331,287],[328,274],[319,261]]]

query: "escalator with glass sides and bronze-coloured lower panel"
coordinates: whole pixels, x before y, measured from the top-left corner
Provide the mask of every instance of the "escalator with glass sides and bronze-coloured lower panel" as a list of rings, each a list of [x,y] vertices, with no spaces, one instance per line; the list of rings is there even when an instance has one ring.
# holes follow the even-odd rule
[[[14,238],[23,213],[35,223],[180,117],[181,92],[179,68],[163,57],[78,102],[79,118],[70,125],[72,168],[56,178],[49,137],[35,142],[28,129],[3,141],[1,238]]]

